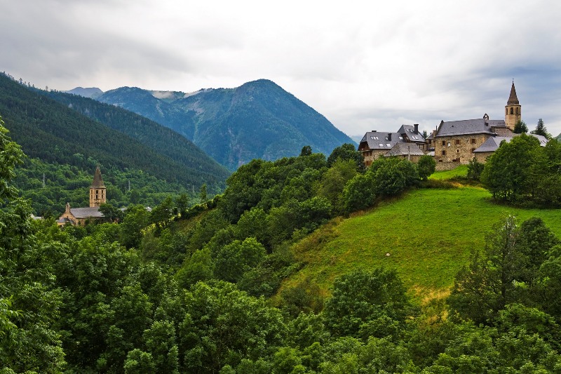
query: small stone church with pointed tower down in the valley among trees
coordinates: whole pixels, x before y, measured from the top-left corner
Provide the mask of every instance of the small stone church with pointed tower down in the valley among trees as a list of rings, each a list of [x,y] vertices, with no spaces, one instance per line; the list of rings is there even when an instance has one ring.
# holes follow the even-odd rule
[[[100,167],[95,168],[93,182],[90,186],[90,206],[88,208],[71,208],[66,203],[65,213],[62,213],[57,220],[57,225],[85,226],[92,222],[104,220],[103,213],[100,212],[100,205],[107,201],[107,189],[101,177]]]

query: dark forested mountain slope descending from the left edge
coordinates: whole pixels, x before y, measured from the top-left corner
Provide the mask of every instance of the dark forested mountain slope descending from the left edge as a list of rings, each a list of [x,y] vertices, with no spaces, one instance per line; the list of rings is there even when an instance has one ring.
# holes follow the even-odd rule
[[[203,183],[212,192],[224,187],[229,173],[181,135],[134,114],[121,128],[127,135],[71,109],[74,103],[62,104],[41,93],[0,74],[0,116],[28,156],[88,171],[94,160],[105,168],[136,169],[190,189]],[[128,118],[122,109],[104,106],[98,112],[98,103],[88,102],[91,105],[84,111],[107,117],[104,121],[111,126]]]

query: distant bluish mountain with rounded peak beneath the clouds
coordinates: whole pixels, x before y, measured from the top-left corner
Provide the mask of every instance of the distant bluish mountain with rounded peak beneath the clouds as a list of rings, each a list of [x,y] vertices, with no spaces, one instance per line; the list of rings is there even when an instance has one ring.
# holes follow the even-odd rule
[[[96,98],[146,116],[192,140],[236,170],[252,159],[297,156],[305,145],[329,155],[351,138],[266,79],[195,93],[123,87]]]

